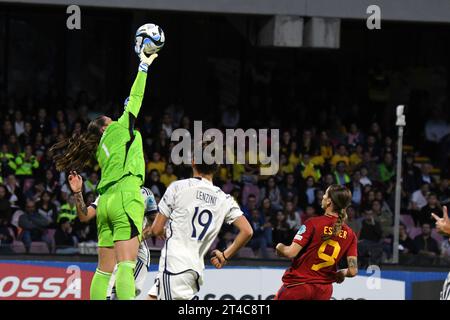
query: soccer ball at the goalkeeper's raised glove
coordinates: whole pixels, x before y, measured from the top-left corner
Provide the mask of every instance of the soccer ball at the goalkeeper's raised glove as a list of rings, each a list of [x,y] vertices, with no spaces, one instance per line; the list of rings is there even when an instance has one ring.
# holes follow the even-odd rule
[[[134,51],[136,54],[139,55],[143,49],[144,53],[149,56],[161,50],[166,38],[164,31],[159,26],[153,23],[147,23],[137,29],[134,40]]]

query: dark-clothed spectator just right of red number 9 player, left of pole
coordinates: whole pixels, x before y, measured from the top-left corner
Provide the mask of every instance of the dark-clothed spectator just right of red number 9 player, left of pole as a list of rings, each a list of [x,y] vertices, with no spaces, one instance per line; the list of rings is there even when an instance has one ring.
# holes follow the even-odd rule
[[[363,266],[380,264],[383,247],[381,244],[383,230],[371,210],[364,212],[358,242],[358,258]]]

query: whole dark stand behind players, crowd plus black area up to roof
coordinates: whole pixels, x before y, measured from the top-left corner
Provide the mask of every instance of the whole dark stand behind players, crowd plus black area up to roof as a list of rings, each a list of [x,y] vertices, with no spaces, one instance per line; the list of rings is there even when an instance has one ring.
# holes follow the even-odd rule
[[[143,17],[86,8],[82,30],[71,32],[57,27],[66,17],[56,8],[34,9],[0,12],[0,250],[92,253],[95,221],[77,219],[49,148],[99,114],[121,114],[137,70],[130,30]],[[145,186],[157,200],[191,175],[189,166],[171,163],[175,129],[192,130],[194,120],[203,130],[280,129],[276,175],[260,175],[259,165],[223,165],[215,177],[254,228],[241,257],[275,258],[274,245],[290,243],[302,223],[322,214],[324,191],[338,183],[353,193],[347,223],[358,234],[361,265],[389,263],[395,107],[405,104],[400,263],[449,264],[449,239],[431,219],[450,201],[447,26],[386,22],[375,34],[343,20],[339,49],[303,50],[257,46],[225,15],[152,12],[151,21],[164,26],[168,41],[149,72],[137,127]],[[192,34],[201,39],[196,50]],[[82,175],[89,204],[100,172]],[[234,236],[224,227],[214,246]]]

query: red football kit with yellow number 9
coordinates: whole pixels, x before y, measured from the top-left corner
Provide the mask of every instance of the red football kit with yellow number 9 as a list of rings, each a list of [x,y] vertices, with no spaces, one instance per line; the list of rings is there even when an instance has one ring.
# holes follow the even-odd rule
[[[336,220],[324,215],[310,218],[300,227],[293,242],[302,250],[284,273],[276,300],[330,300],[339,261],[358,255],[358,240],[350,227],[344,224],[332,235]]]

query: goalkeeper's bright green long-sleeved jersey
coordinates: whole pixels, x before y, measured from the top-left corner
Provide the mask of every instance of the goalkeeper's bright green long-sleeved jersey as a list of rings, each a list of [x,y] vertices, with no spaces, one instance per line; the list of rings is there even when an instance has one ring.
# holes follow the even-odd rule
[[[141,108],[147,73],[138,71],[122,116],[105,130],[97,148],[96,158],[101,168],[97,187],[99,194],[124,176],[133,175],[144,184],[145,161],[142,137],[134,130],[134,122]]]

